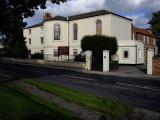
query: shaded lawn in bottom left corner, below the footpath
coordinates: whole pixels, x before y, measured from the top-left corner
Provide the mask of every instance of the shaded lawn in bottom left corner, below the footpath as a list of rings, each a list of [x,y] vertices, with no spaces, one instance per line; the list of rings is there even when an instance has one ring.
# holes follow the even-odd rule
[[[0,120],[79,120],[71,112],[44,102],[12,84],[0,84]]]

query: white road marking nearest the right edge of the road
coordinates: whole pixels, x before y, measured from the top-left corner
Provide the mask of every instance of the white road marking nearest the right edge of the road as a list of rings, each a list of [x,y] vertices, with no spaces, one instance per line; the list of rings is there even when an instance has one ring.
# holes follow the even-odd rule
[[[160,88],[158,88],[158,87],[143,86],[143,85],[136,85],[136,84],[128,84],[128,83],[121,83],[121,82],[116,82],[116,84],[117,85],[121,85],[121,86],[135,87],[135,88],[141,88],[141,89],[147,89],[147,90],[160,92]]]

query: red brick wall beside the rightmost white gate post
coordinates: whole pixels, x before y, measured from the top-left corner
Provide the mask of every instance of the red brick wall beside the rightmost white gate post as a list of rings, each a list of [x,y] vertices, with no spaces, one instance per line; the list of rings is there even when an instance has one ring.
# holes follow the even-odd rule
[[[153,75],[160,75],[160,57],[153,58]]]

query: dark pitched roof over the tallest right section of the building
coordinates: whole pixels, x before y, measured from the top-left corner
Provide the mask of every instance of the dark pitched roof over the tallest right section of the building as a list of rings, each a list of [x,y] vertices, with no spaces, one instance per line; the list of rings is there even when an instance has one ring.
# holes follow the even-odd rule
[[[87,13],[82,13],[82,14],[78,14],[78,15],[69,16],[69,20],[70,21],[71,20],[78,20],[78,19],[94,17],[94,16],[99,16],[99,15],[105,15],[105,14],[113,14],[113,15],[119,16],[121,18],[132,21],[132,19],[129,19],[129,18],[121,16],[121,15],[118,15],[118,14],[113,13],[113,12],[108,11],[108,10],[98,10],[98,11],[87,12]]]

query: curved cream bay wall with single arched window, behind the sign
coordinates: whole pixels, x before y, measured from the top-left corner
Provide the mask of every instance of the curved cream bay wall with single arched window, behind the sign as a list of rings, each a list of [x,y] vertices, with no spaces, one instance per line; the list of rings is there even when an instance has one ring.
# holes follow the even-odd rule
[[[54,25],[60,25],[60,40],[54,40]],[[58,50],[58,46],[68,46],[68,22],[67,21],[46,21],[44,23],[44,54],[48,55],[50,60],[54,59],[54,49]],[[64,57],[63,57],[64,58]],[[62,58],[62,59],[63,59]],[[58,57],[55,58],[58,60]]]

